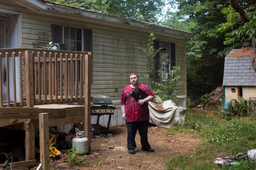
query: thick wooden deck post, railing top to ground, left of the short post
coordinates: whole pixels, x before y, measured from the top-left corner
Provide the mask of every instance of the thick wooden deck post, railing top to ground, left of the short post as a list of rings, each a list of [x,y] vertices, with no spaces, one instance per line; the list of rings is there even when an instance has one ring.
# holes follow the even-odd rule
[[[25,89],[27,107],[34,107],[34,81],[33,81],[33,68],[34,68],[34,57],[32,51],[25,51]],[[25,131],[25,157],[26,160],[35,159],[35,141],[34,141],[34,121],[27,119],[30,122],[30,131]]]

